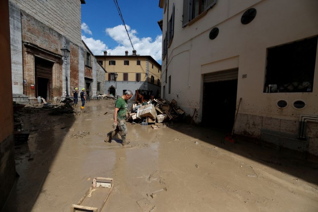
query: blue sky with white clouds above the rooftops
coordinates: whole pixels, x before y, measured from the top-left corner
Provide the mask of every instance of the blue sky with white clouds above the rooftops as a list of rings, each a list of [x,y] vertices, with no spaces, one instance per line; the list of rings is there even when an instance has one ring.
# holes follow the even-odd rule
[[[85,0],[82,4],[82,39],[94,55],[132,54],[127,32],[114,0]],[[161,64],[162,19],[159,0],[117,0],[137,54],[150,55]]]

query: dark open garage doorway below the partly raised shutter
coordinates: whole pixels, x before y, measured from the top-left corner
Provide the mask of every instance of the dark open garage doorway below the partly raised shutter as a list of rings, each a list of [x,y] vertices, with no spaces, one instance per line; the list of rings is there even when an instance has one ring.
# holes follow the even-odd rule
[[[203,85],[202,123],[207,127],[232,130],[238,80],[209,82]]]

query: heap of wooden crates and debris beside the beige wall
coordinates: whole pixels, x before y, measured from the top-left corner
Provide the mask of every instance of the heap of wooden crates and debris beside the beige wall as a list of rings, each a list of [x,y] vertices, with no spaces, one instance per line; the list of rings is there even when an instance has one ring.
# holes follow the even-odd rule
[[[133,104],[128,120],[134,123],[163,123],[170,120],[177,120],[184,114],[184,111],[177,106],[176,100],[153,99],[142,104]]]

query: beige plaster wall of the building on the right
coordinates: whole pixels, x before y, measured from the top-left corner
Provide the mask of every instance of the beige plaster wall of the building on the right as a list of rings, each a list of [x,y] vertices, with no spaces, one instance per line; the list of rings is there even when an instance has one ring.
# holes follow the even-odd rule
[[[311,93],[263,93],[263,88],[266,49],[317,35],[318,1],[217,1],[204,17],[184,28],[177,21],[182,19],[183,1],[169,1],[169,17],[172,3],[176,4],[176,21],[173,42],[168,49],[167,79],[171,75],[171,93],[164,82],[166,72],[162,75],[162,86],[166,85],[166,98],[178,99],[188,114],[197,109],[196,122],[202,118],[203,74],[237,67],[237,97],[242,97],[240,113],[286,120],[298,120],[300,114],[317,114],[317,83]],[[257,15],[251,23],[243,25],[240,18],[250,7],[257,10]],[[209,33],[214,27],[219,28],[219,34],[210,40]],[[318,59],[314,82],[318,82],[317,62]],[[163,60],[162,70],[165,68]],[[247,78],[242,79],[242,74],[247,74]],[[276,106],[279,99],[286,99],[289,106],[279,109]],[[302,110],[292,107],[298,99],[307,103]]]

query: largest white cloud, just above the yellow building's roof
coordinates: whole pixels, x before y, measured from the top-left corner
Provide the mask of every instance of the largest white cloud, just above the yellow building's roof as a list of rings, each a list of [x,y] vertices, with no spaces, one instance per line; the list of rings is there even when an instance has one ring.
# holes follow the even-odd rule
[[[150,55],[156,61],[161,61],[161,42],[162,35],[158,35],[156,39],[153,41],[152,38],[138,38],[137,31],[131,29],[130,26],[126,25],[128,30],[131,42],[134,45],[137,54],[140,55]],[[128,50],[128,54],[132,54],[132,46],[129,41],[127,32],[125,30],[124,25],[118,25],[113,28],[106,28],[106,33],[111,38],[113,38],[119,45],[114,49],[107,49],[108,53],[111,55],[124,55],[125,51]]]

